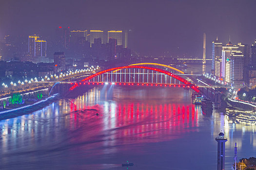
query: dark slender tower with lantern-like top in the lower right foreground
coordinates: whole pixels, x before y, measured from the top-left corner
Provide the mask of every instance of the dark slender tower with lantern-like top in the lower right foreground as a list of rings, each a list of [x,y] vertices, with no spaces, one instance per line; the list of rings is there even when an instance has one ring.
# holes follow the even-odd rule
[[[217,170],[225,170],[225,142],[228,141],[224,134],[220,132],[215,138],[218,142],[217,148]]]

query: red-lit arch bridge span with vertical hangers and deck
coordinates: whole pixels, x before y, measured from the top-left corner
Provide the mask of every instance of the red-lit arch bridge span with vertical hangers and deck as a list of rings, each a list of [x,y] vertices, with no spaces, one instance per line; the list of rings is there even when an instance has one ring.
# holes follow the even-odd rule
[[[192,80],[187,80],[184,76],[186,74],[177,75],[160,68],[123,66],[99,71],[79,82],[71,83],[69,90],[72,91],[80,85],[142,85],[184,87],[201,93],[199,86],[191,83]]]

